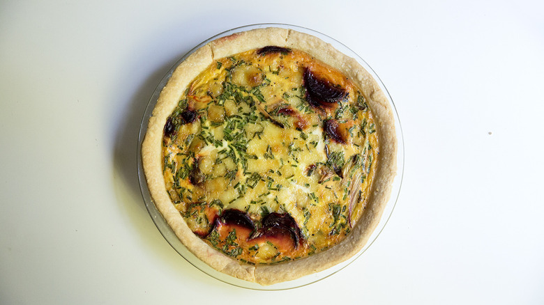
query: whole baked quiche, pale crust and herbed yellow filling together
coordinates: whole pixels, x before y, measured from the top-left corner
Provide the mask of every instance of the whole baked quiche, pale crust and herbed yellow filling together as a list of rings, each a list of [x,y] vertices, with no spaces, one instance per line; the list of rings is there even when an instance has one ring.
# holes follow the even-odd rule
[[[142,143],[157,209],[211,267],[270,285],[360,251],[396,171],[390,103],[353,58],[290,29],[213,40],[174,70]]]

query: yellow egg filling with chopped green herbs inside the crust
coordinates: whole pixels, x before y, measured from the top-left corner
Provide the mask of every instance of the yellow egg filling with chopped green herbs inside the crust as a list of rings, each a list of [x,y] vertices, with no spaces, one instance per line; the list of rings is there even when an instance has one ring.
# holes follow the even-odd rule
[[[189,228],[227,256],[280,263],[324,251],[363,214],[378,136],[365,96],[296,49],[222,58],[167,119],[163,176]]]

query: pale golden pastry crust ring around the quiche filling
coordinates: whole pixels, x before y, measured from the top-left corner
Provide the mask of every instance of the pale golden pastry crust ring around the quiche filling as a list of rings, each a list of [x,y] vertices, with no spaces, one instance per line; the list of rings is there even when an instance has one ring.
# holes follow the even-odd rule
[[[378,168],[365,212],[351,233],[339,244],[306,258],[277,265],[248,265],[213,247],[190,230],[165,186],[163,176],[163,131],[167,118],[179,103],[190,82],[219,58],[266,46],[298,49],[340,70],[361,89],[372,110],[379,137]],[[255,29],[218,38],[192,53],[174,70],[160,93],[142,143],[142,164],[153,203],[181,242],[204,263],[238,279],[271,285],[298,279],[342,263],[360,251],[375,230],[391,193],[396,175],[397,140],[393,109],[375,79],[359,63],[328,43],[291,29]]]

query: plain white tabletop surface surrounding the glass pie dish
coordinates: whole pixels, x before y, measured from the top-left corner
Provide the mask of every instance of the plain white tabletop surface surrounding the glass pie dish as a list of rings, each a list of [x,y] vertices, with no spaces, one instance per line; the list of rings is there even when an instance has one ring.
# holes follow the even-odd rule
[[[544,304],[543,14],[542,1],[1,1],[0,303]],[[181,258],[136,172],[139,123],[171,65],[262,22],[363,57],[405,139],[378,240],[278,292]]]

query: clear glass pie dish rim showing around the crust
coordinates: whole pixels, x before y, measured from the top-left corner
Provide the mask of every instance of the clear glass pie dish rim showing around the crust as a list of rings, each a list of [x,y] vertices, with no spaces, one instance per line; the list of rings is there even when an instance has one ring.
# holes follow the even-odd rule
[[[348,260],[345,260],[345,262],[339,263],[338,265],[335,265],[331,268],[328,268],[322,272],[317,272],[315,274],[310,274],[307,276],[303,276],[300,279],[295,279],[293,281],[287,281],[282,283],[273,284],[271,286],[261,286],[257,283],[251,283],[248,281],[243,281],[241,279],[236,279],[233,276],[229,276],[227,274],[223,274],[222,272],[218,272],[216,269],[213,269],[209,265],[206,265],[206,263],[202,262],[202,260],[199,260],[194,254],[192,254],[188,249],[181,243],[181,241],[178,239],[178,237],[174,234],[172,231],[172,228],[168,226],[165,219],[163,219],[162,214],[157,210],[155,204],[153,203],[153,200],[151,199],[151,195],[149,194],[149,189],[147,187],[146,178],[144,175],[143,167],[142,167],[142,141],[144,139],[145,132],[147,130],[147,124],[148,120],[151,117],[151,112],[153,111],[153,108],[155,107],[155,104],[158,99],[158,95],[160,94],[160,91],[167,83],[168,79],[172,76],[172,72],[174,72],[174,69],[183,62],[190,54],[195,52],[200,47],[206,45],[206,43],[216,40],[218,38],[229,36],[232,33],[238,33],[241,31],[249,31],[251,29],[262,29],[266,27],[280,27],[283,29],[293,29],[295,31],[299,31],[302,33],[308,33],[312,36],[315,36],[321,40],[324,40],[325,42],[330,43],[338,49],[340,52],[346,54],[347,56],[351,56],[356,59],[356,61],[367,70],[370,75],[377,81],[377,84],[381,88],[381,90],[386,95],[389,102],[391,102],[391,107],[393,109],[393,117],[395,120],[395,132],[397,136],[397,176],[395,177],[395,180],[393,182],[393,187],[391,189],[391,197],[386,204],[386,208],[384,209],[383,213],[381,214],[381,219],[379,221],[379,224],[375,228],[375,230],[372,232],[372,235],[370,236],[368,242],[365,244],[363,249],[361,251],[358,251],[354,256],[349,258]],[[263,23],[263,24],[250,24],[246,26],[239,26],[234,29],[229,29],[227,31],[224,31],[222,33],[217,34],[216,36],[213,36],[211,38],[208,38],[207,40],[204,40],[196,47],[192,48],[189,52],[187,52],[185,55],[183,55],[179,61],[177,61],[172,68],[169,69],[169,71],[166,73],[166,75],[163,77],[163,79],[159,82],[158,86],[156,87],[155,91],[153,92],[153,95],[151,95],[151,98],[149,99],[149,102],[146,106],[146,110],[144,111],[144,115],[142,116],[142,122],[140,124],[139,128],[139,134],[138,134],[138,143],[137,143],[137,173],[138,173],[138,181],[139,181],[139,187],[140,191],[142,193],[142,198],[144,200],[144,203],[146,205],[146,209],[149,212],[149,216],[151,219],[153,219],[153,223],[158,228],[159,232],[165,240],[170,244],[170,246],[178,252],[181,257],[183,257],[185,260],[188,261],[191,265],[195,266],[200,271],[204,272],[205,274],[208,274],[209,276],[213,277],[214,279],[217,279],[219,281],[222,281],[224,283],[228,283],[233,286],[241,287],[241,288],[248,288],[253,290],[287,290],[292,288],[299,288],[302,286],[310,285],[311,283],[315,283],[317,281],[321,281],[322,279],[326,279],[328,276],[331,276],[340,270],[344,269],[348,265],[350,265],[354,260],[359,258],[369,247],[372,245],[375,240],[377,240],[377,237],[381,233],[382,230],[384,230],[384,227],[386,226],[388,220],[391,218],[391,214],[393,213],[393,210],[395,208],[395,205],[398,202],[398,198],[400,195],[400,188],[402,186],[402,179],[404,175],[404,138],[402,136],[402,127],[400,125],[400,119],[398,116],[398,111],[395,107],[395,104],[393,102],[393,99],[391,98],[391,95],[389,95],[387,88],[382,83],[381,79],[377,76],[376,72],[370,68],[370,65],[366,63],[361,56],[358,56],[352,49],[349,49],[346,45],[342,44],[342,42],[339,42],[338,40],[335,40],[334,38],[331,38],[330,36],[327,36],[323,33],[319,33],[318,31],[308,29],[302,26],[296,26],[292,24],[278,24],[278,23]]]

